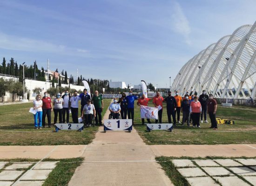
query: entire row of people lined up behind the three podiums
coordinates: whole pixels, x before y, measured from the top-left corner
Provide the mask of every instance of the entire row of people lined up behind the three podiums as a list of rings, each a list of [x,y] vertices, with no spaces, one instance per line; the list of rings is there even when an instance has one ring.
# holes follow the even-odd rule
[[[78,123],[78,101],[81,100],[81,117],[86,120],[86,124],[91,123],[92,117],[95,118],[96,125],[102,125],[101,123],[101,112],[103,109],[103,100],[98,91],[94,92],[94,96],[91,100],[91,95],[87,93],[87,89],[83,90],[78,96],[77,91],[74,91],[73,96],[70,95],[68,91],[65,91],[65,94],[61,97],[61,93],[56,94],[56,98],[53,101],[48,97],[47,92],[44,93],[44,97],[41,98],[40,95],[36,96],[36,100],[33,102],[34,109],[37,109],[37,113],[34,114],[34,126],[36,129],[41,129],[45,127],[45,119],[47,116],[48,127],[51,127],[51,112],[54,111],[54,124],[57,122],[59,115],[59,123],[69,123],[69,114],[72,114],[73,123]],[[175,91],[175,96],[172,96],[172,93],[169,91],[168,96],[164,99],[159,92],[156,93],[156,96],[153,99],[146,98],[142,94],[141,98],[137,98],[133,95],[132,91],[129,92],[129,95],[126,96],[125,93],[122,93],[122,96],[119,100],[114,98],[114,102],[108,107],[110,113],[112,114],[113,119],[118,119],[119,114],[121,114],[121,119],[132,120],[134,124],[134,103],[137,100],[138,106],[148,106],[148,101],[153,100],[155,107],[158,107],[158,120],[155,120],[155,123],[162,123],[162,111],[163,111],[163,102],[166,102],[166,110],[168,116],[168,123],[172,123],[176,126],[176,123],[180,122],[180,113],[182,112],[182,125],[186,122],[190,126],[190,122],[195,127],[200,128],[200,117],[201,123],[208,123],[207,121],[207,112],[211,120],[211,127],[215,130],[217,129],[216,122],[216,109],[217,103],[213,99],[213,95],[206,94],[206,91],[203,90],[202,94],[199,96],[199,99],[195,95],[189,96],[189,92],[185,94],[182,98],[179,95],[178,91]],[[177,121],[176,121],[177,115]],[[67,117],[66,117],[67,116]],[[67,120],[65,120],[67,119]],[[39,120],[39,122],[38,122]],[[148,123],[151,123],[147,119]],[[145,123],[145,120],[141,119],[142,124]]]

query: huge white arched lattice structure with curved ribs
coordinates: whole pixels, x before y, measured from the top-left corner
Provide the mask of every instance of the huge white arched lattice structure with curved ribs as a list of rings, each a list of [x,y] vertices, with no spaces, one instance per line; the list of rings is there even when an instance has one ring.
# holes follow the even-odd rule
[[[175,77],[180,95],[202,90],[217,98],[256,96],[256,22],[237,28],[190,59]]]

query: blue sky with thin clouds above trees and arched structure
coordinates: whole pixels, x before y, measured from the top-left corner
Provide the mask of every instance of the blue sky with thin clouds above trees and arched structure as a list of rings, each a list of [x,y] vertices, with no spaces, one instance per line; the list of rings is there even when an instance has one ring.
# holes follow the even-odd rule
[[[1,0],[0,62],[169,86],[195,54],[254,24],[256,0]]]

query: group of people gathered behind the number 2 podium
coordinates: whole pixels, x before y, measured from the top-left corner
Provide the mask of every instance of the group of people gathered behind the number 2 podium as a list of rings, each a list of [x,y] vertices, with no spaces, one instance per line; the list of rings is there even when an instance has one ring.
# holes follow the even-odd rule
[[[96,124],[102,125],[101,112],[103,109],[103,100],[98,91],[96,90],[94,92],[94,96],[91,100],[91,96],[87,93],[87,89],[84,89],[83,93],[79,96],[77,91],[74,91],[73,96],[71,96],[67,90],[62,96],[61,93],[57,93],[53,103],[47,92],[44,93],[43,98],[41,98],[40,94],[36,96],[36,99],[33,101],[33,108],[37,109],[37,113],[34,114],[35,129],[45,128],[46,116],[48,127],[51,127],[52,111],[54,111],[54,124],[57,123],[58,115],[59,123],[69,123],[70,113],[72,114],[73,123],[78,123],[79,100],[81,100],[81,117],[84,116],[84,113],[87,114],[87,116],[90,117],[87,117],[86,119],[90,122],[90,119],[94,116]]]

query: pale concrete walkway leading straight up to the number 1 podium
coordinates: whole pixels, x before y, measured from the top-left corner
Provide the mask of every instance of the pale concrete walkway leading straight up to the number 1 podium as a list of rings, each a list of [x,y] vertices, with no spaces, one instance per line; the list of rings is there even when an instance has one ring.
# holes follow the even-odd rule
[[[135,131],[97,133],[83,157],[69,186],[173,186]]]

